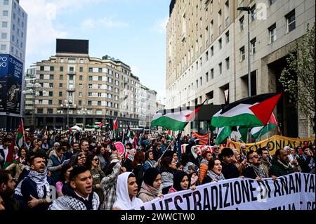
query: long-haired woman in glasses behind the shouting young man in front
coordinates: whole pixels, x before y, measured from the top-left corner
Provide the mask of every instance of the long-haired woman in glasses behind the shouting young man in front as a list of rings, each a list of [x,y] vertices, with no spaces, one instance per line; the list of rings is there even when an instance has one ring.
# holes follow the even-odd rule
[[[98,194],[100,204],[102,204],[104,200],[104,195],[100,183],[101,180],[105,177],[105,173],[103,173],[101,169],[97,154],[89,154],[88,157],[86,157],[86,167],[90,170],[90,173],[92,175],[92,190]]]

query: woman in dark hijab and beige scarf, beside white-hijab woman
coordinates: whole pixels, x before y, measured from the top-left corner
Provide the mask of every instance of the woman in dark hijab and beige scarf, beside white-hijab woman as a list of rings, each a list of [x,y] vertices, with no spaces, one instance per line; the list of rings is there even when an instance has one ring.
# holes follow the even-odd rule
[[[143,184],[138,193],[138,198],[143,202],[150,202],[162,195],[162,175],[156,168],[149,168],[145,171]]]

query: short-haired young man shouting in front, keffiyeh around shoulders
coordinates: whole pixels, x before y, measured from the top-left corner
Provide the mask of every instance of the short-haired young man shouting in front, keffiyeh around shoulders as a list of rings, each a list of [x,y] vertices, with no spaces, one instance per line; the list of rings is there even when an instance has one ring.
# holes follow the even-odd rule
[[[62,197],[55,199],[49,210],[98,210],[99,197],[92,191],[92,176],[85,166],[70,171],[70,183],[62,187]]]

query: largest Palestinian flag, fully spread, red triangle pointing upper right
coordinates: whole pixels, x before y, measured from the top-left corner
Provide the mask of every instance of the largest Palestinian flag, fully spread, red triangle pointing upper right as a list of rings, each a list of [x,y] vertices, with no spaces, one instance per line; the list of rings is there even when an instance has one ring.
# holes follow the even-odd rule
[[[265,126],[280,96],[281,93],[266,93],[230,103],[213,115],[211,125],[218,128]]]

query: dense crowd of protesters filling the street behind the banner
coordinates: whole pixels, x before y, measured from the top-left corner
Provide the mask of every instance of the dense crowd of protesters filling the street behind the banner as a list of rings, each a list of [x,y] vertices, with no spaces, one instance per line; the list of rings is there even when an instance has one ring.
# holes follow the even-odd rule
[[[284,147],[273,156],[211,144],[198,153],[198,138],[178,141],[166,134],[126,135],[57,131],[0,132],[0,210],[131,209],[157,197],[231,178],[275,179],[289,173],[315,173],[315,145]],[[123,141],[119,154],[115,141]],[[177,144],[173,144],[176,143]],[[180,153],[178,145],[187,144]]]

